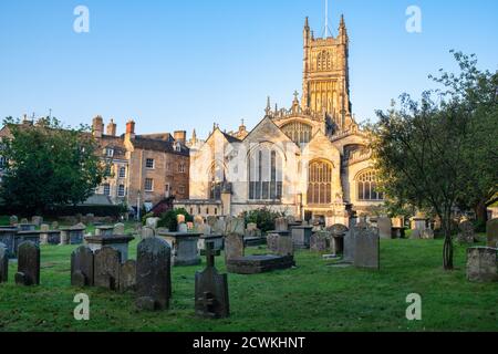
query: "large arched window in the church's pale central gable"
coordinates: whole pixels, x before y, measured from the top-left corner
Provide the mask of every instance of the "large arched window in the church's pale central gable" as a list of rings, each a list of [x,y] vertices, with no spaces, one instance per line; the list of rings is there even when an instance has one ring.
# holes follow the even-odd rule
[[[259,146],[249,155],[249,199],[282,198],[282,157],[271,146]]]

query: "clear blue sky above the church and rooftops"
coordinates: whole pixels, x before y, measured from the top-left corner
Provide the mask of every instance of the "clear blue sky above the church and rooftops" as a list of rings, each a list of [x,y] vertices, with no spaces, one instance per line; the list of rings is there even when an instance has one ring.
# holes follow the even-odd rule
[[[76,6],[90,33],[73,31]],[[408,6],[422,9],[422,33],[405,30]],[[351,94],[357,121],[375,118],[402,92],[419,94],[450,49],[476,53],[497,70],[498,1],[330,0],[330,28],[344,13]],[[100,114],[124,131],[252,128],[266,97],[290,106],[301,91],[304,18],[317,34],[324,0],[2,0],[0,117],[53,115],[66,124]]]

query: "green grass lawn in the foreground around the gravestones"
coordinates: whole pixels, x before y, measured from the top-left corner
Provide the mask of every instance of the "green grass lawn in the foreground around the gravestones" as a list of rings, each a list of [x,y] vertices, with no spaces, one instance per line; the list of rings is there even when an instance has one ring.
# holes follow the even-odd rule
[[[137,241],[131,244],[136,257]],[[137,312],[134,295],[70,287],[74,246],[42,247],[40,287],[0,284],[0,331],[498,331],[498,283],[466,280],[466,249],[456,249],[454,272],[442,268],[443,241],[382,241],[382,270],[329,267],[320,254],[299,251],[297,269],[259,275],[229,274],[231,317],[194,314],[194,274],[173,269],[169,311]],[[249,249],[249,253],[263,250]],[[217,267],[225,271],[222,257]],[[73,298],[85,292],[91,319],[73,319]],[[408,322],[405,300],[423,299],[423,321]]]

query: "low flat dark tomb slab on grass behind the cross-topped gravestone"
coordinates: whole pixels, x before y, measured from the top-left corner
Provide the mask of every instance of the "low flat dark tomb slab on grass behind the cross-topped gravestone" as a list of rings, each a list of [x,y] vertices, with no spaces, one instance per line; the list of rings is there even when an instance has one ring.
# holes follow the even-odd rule
[[[260,274],[273,270],[289,269],[294,264],[292,256],[248,256],[229,260],[227,270],[235,274]]]

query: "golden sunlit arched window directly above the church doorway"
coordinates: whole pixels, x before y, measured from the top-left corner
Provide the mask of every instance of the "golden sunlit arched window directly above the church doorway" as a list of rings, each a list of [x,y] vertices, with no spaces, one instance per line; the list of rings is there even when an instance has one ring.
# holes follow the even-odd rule
[[[310,163],[308,170],[308,204],[330,205],[332,202],[332,169],[326,160]]]

